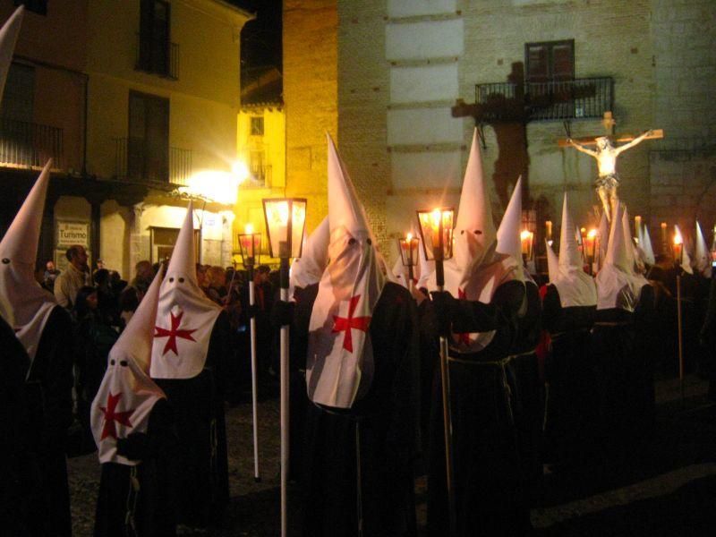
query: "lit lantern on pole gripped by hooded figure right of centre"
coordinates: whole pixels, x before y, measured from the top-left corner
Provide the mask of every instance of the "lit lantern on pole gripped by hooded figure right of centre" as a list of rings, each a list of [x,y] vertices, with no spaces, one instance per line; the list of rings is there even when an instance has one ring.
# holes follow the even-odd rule
[[[453,257],[453,220],[455,210],[443,207],[432,210],[419,210],[418,224],[425,259],[435,260],[435,285],[438,291],[445,287],[443,261]],[[440,382],[442,388],[442,417],[445,436],[445,469],[447,478],[447,504],[450,516],[450,531],[456,531],[455,470],[453,468],[453,427],[450,409],[450,377],[448,370],[447,334],[440,334]]]

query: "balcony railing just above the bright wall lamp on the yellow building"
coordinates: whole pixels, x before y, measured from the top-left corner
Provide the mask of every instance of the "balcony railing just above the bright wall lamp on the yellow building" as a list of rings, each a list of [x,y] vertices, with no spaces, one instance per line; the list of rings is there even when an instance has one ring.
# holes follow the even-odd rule
[[[186,185],[192,176],[192,149],[152,151],[146,141],[115,139],[115,178],[120,181]]]

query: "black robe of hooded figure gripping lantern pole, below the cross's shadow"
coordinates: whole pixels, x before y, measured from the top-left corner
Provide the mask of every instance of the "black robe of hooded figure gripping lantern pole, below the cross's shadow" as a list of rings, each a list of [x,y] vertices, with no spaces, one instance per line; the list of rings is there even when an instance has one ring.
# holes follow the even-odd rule
[[[531,531],[512,412],[516,387],[507,374],[507,357],[515,345],[524,295],[524,284],[510,281],[498,287],[490,304],[460,300],[452,316],[454,333],[496,330],[482,352],[450,351],[455,535],[524,535]],[[430,428],[428,534],[447,535],[448,526],[442,395],[436,376]]]

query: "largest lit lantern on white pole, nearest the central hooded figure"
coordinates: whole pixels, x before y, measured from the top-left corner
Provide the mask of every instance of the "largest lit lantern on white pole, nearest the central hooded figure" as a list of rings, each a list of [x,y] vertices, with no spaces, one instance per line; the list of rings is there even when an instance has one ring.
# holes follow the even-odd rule
[[[300,258],[303,228],[306,226],[306,200],[274,198],[263,200],[268,251],[281,260],[281,301],[288,302],[290,258]],[[281,327],[281,537],[287,533],[286,492],[288,489],[288,325]]]

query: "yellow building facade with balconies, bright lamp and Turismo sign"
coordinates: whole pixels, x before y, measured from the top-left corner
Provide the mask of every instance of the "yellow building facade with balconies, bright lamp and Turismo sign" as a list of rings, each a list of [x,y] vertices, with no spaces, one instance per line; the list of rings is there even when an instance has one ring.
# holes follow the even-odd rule
[[[0,2],[0,16],[14,4]],[[2,225],[54,158],[40,260],[62,265],[82,243],[132,277],[137,261],[171,251],[191,194],[202,262],[230,264],[239,36],[251,14],[222,0],[31,6],[2,106],[0,174],[18,194]]]

